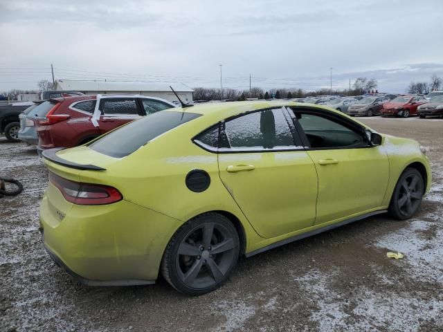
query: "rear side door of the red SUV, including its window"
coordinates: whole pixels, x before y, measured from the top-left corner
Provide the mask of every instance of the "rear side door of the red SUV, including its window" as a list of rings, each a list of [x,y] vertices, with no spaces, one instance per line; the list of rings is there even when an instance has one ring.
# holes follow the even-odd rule
[[[143,114],[137,98],[134,97],[101,98],[98,109],[101,112],[98,119],[100,133],[106,133],[122,124],[141,118]]]

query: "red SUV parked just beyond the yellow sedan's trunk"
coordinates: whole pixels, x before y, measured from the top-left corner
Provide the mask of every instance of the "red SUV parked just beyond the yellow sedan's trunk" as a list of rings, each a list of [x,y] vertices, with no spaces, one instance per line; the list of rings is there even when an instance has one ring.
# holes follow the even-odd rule
[[[172,102],[143,95],[82,95],[50,100],[53,107],[37,121],[39,154],[53,147],[75,147]]]

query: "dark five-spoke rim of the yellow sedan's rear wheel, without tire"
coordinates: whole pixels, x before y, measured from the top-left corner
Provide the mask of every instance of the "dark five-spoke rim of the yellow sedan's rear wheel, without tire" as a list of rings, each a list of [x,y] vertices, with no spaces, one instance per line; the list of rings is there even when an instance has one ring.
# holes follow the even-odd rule
[[[180,243],[176,268],[183,284],[201,289],[225,279],[234,259],[234,241],[219,223],[205,223],[191,230]]]

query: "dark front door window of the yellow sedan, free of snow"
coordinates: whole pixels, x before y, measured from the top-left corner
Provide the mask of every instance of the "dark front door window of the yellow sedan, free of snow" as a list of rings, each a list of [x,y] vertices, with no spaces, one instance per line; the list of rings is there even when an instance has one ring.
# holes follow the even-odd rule
[[[345,125],[309,113],[298,113],[298,122],[314,148],[363,147],[368,143],[361,133]]]

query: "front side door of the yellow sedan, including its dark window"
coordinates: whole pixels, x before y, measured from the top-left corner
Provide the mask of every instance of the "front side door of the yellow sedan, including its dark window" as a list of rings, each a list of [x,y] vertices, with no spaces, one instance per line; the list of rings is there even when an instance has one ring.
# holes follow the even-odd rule
[[[377,210],[389,179],[383,146],[371,146],[363,127],[344,117],[295,112],[318,174],[316,224]]]

